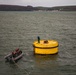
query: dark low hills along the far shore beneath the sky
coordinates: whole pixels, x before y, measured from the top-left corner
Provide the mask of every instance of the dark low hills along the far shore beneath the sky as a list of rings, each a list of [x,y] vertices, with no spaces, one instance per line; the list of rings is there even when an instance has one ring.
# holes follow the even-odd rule
[[[33,7],[30,5],[0,5],[0,11],[76,11],[76,6]]]

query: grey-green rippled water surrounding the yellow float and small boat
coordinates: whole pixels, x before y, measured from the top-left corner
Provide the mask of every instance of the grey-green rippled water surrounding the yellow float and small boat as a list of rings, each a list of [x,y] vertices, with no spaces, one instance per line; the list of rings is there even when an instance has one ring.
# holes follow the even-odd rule
[[[59,53],[33,55],[37,36],[57,40]],[[6,63],[16,48],[23,58]],[[0,75],[76,75],[76,12],[0,11]]]

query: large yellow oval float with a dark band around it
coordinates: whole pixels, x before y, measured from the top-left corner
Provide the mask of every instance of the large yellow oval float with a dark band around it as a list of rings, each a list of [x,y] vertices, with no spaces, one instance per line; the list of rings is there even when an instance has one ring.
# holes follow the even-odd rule
[[[55,40],[40,40],[33,43],[35,54],[56,54],[58,53],[58,42]]]

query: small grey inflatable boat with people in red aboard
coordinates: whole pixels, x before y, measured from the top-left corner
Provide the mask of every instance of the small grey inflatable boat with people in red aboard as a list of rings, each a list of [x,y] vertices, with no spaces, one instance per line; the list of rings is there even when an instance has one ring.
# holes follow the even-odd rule
[[[22,58],[23,53],[21,50],[16,49],[15,51],[13,51],[12,53],[8,54],[5,56],[5,59],[7,62],[17,62],[20,58]]]

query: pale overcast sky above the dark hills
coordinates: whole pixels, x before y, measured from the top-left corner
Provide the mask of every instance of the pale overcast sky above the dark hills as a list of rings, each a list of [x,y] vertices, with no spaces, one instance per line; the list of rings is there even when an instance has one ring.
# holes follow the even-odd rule
[[[76,0],[0,0],[0,4],[53,7],[64,5],[76,5]]]

